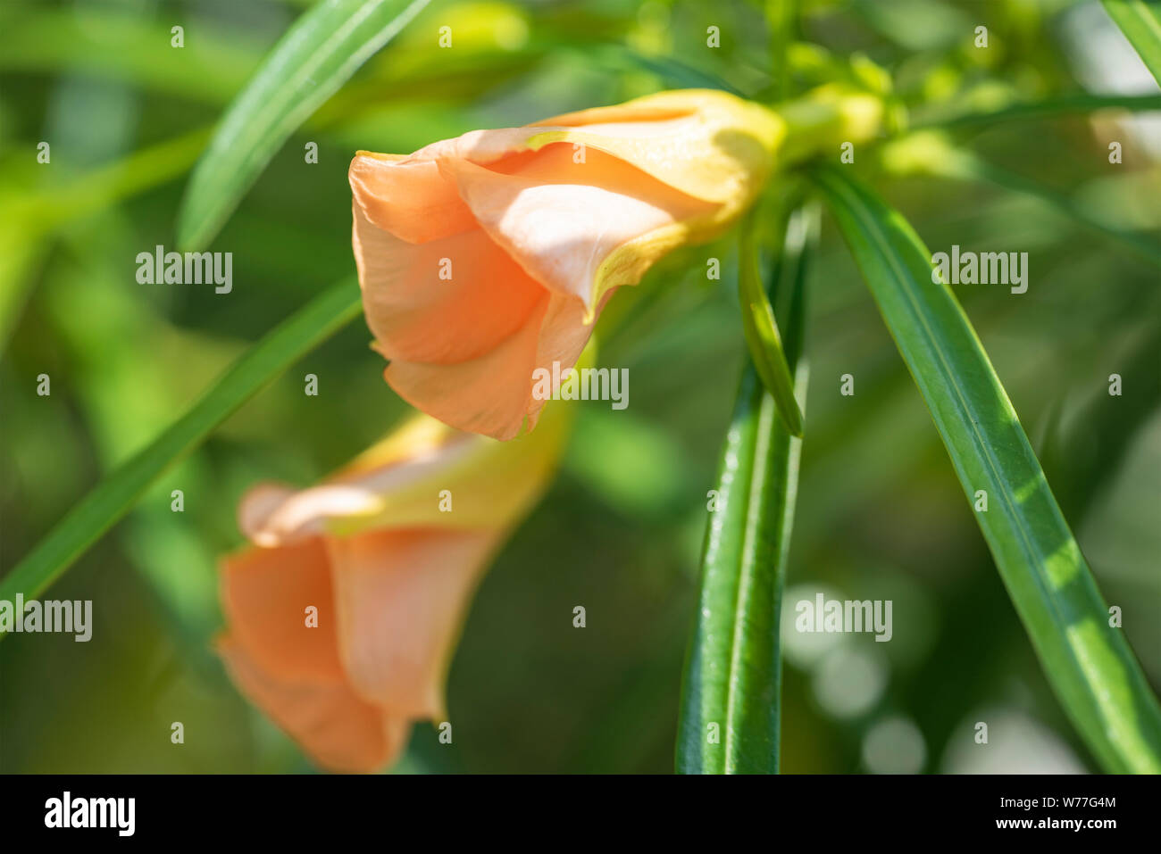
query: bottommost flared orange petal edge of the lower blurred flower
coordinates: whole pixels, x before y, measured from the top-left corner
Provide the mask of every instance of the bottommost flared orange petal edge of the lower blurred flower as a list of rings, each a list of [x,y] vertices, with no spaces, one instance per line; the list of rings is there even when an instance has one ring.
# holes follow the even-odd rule
[[[406,746],[410,722],[384,715],[344,682],[296,681],[271,672],[229,636],[217,649],[243,693],[324,768],[374,772]]]

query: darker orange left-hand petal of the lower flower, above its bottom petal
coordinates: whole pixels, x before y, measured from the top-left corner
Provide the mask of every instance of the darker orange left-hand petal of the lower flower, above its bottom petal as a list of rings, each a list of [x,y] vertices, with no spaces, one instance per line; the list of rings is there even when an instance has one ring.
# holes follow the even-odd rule
[[[237,644],[255,666],[282,680],[342,679],[330,560],[317,538],[246,549],[221,566],[222,607]],[[318,608],[318,627],[307,608]]]

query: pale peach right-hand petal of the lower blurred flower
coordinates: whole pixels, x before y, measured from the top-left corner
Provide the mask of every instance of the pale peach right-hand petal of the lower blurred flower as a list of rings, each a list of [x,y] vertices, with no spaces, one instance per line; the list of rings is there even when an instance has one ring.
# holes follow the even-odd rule
[[[497,531],[375,530],[327,541],[339,649],[354,690],[441,719],[444,679]]]

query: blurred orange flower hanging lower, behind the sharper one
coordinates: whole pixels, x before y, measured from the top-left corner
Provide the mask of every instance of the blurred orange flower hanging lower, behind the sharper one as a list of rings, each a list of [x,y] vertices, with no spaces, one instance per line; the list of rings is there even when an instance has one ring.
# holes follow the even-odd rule
[[[254,547],[222,563],[218,651],[320,766],[375,770],[413,721],[446,718],[473,591],[547,484],[564,427],[554,413],[505,444],[417,415],[319,486],[244,497]]]

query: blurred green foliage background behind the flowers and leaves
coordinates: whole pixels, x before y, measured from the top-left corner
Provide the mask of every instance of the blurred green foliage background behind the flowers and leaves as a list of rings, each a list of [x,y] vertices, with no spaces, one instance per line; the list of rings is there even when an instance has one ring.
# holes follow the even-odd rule
[[[307,5],[8,0],[0,9],[0,573],[253,341],[353,273],[354,150],[409,152],[699,78],[748,95],[778,88],[753,2],[435,2],[300,129],[209,247],[233,252],[231,294],[138,284],[137,253],[174,248],[185,180],[214,122]],[[858,77],[873,61],[916,124],[1055,93],[1156,92],[1096,3],[802,7],[802,38],[829,53],[792,51],[794,88],[836,68]],[[186,46],[174,49],[179,24]],[[444,24],[455,46],[438,51]],[[981,24],[986,51],[973,45]],[[719,49],[706,46],[711,26]],[[1154,687],[1159,273],[1108,231],[1158,238],[1158,121],[1106,113],[954,131],[1039,194],[895,174],[871,150],[856,164],[932,252],[1029,252],[1025,295],[957,292]],[[1123,143],[1119,166],[1108,164],[1109,139]],[[41,140],[51,143],[49,165],[37,164]],[[304,162],[308,142],[317,165]],[[1069,217],[1066,202],[1090,222]],[[582,411],[558,479],[471,608],[448,683],[454,743],[438,744],[421,724],[396,770],[672,769],[706,493],[744,354],[733,255],[731,240],[683,251],[618,296],[633,305],[600,359],[630,369],[630,406]],[[720,282],[706,281],[711,256],[723,261]],[[784,631],[783,769],[1093,769],[825,218],[812,287],[785,599],[822,589],[893,600],[894,639]],[[248,486],[310,484],[405,414],[369,340],[359,319],[304,359],[42,596],[92,599],[89,643],[0,643],[0,770],[310,769],[209,650],[221,628],[215,560],[240,543],[235,507]],[[318,397],[302,392],[308,372]],[[848,372],[853,397],[839,395]],[[1108,395],[1112,372],[1122,397]],[[39,374],[51,377],[50,397],[36,395]],[[180,514],[170,509],[175,488]],[[583,630],[572,627],[577,605]],[[174,721],[182,745],[170,741]],[[987,750],[973,741],[976,721],[989,723]]]

